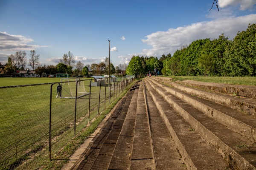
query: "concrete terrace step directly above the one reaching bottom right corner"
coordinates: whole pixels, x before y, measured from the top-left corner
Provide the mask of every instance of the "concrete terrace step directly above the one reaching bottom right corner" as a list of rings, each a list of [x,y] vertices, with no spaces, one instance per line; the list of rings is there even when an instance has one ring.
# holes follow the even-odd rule
[[[218,120],[218,122],[226,125],[231,130],[240,133],[252,142],[256,142],[256,119],[254,116],[241,113],[206,99],[186,94],[176,88],[170,88],[167,85],[159,84],[154,80],[151,82],[192,105],[194,108],[206,113],[213,119]]]

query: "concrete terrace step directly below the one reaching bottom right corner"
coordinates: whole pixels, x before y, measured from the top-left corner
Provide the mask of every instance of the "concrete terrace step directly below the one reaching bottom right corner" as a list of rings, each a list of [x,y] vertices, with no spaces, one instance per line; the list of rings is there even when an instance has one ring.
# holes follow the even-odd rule
[[[146,88],[151,94],[157,109],[160,111],[172,139],[175,141],[186,167],[191,170],[225,169],[228,167],[218,152],[200,136],[180,113],[175,111],[163,97],[146,82]]]

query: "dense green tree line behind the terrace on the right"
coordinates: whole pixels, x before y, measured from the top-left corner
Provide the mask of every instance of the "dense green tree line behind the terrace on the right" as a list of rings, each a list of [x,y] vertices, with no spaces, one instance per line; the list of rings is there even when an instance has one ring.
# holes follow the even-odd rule
[[[157,68],[170,76],[256,76],[256,24],[228,39],[222,33],[218,39],[195,40],[160,59],[133,56],[127,74],[147,74]]]

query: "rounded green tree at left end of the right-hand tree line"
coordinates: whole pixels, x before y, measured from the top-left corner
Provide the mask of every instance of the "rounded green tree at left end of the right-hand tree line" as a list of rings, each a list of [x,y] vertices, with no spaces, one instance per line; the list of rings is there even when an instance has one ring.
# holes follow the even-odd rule
[[[136,77],[137,75],[143,73],[143,66],[139,56],[133,56],[131,58],[131,61],[129,62],[129,65],[126,69],[126,73],[135,75]]]

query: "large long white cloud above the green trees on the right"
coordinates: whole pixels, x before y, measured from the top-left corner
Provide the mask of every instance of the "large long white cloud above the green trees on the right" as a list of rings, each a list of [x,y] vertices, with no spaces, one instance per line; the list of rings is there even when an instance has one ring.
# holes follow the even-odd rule
[[[168,31],[157,31],[147,35],[142,40],[151,49],[143,49],[140,56],[161,57],[163,54],[173,54],[181,45],[189,45],[192,41],[218,38],[222,33],[233,39],[238,31],[246,30],[249,23],[255,23],[256,14],[243,17],[231,17],[209,22],[194,23],[189,26],[170,28]]]

